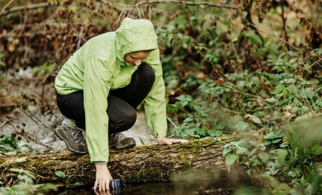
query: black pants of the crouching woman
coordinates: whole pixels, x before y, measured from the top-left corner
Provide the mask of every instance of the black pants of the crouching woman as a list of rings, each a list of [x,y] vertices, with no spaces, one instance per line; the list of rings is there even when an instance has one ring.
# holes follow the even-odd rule
[[[148,64],[142,62],[127,86],[110,90],[107,97],[107,115],[109,117],[109,133],[118,133],[130,129],[137,118],[135,108],[150,92],[155,81],[154,71]],[[75,120],[76,125],[85,129],[85,110],[83,91],[67,95],[57,95],[57,105],[61,114]]]

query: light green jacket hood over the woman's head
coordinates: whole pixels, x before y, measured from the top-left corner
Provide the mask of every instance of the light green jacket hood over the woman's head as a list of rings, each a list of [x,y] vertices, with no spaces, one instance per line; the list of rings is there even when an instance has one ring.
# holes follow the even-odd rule
[[[150,20],[125,18],[116,31],[116,55],[121,62],[130,52],[158,48],[158,38]]]

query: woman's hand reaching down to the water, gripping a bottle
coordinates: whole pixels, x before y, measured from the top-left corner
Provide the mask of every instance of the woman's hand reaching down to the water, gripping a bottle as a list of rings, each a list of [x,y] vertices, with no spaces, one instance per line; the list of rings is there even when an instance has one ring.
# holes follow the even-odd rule
[[[107,168],[107,165],[95,165],[96,167],[96,179],[94,184],[94,192],[97,194],[97,185],[99,185],[100,194],[109,194],[110,191],[110,180],[112,176]],[[106,192],[107,191],[107,192]]]

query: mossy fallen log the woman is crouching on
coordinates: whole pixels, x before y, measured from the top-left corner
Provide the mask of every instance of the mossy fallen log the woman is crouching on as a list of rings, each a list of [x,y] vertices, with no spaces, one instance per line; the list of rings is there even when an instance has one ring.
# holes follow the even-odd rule
[[[223,146],[235,139],[230,136],[206,137],[169,146],[145,145],[123,151],[110,150],[108,167],[114,178],[126,182],[167,181],[172,179],[172,173],[188,170],[216,169],[227,173]],[[95,165],[90,162],[89,155],[70,152],[0,155],[2,181],[8,181],[14,174],[10,168],[35,173],[36,183],[90,184],[95,181]],[[56,171],[64,172],[66,177],[56,176]]]

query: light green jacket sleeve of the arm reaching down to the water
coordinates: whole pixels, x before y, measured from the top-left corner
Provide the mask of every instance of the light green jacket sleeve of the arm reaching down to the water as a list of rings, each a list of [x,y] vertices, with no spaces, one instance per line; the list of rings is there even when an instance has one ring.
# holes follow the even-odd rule
[[[107,60],[91,57],[84,67],[86,142],[91,161],[108,161],[107,96],[113,70]]]

